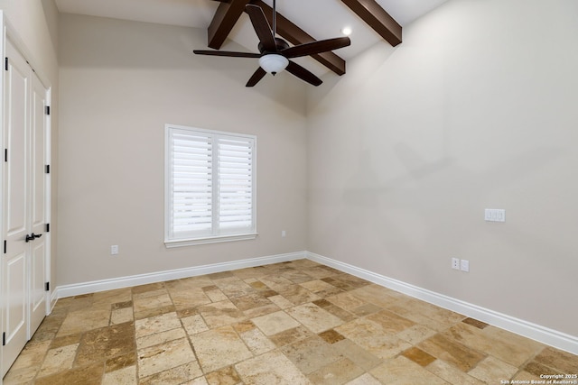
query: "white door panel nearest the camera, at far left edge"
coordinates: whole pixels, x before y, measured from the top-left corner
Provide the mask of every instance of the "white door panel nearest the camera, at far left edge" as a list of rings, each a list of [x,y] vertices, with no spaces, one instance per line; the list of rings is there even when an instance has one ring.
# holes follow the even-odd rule
[[[28,234],[30,138],[28,120],[30,67],[10,41],[6,41],[8,69],[5,76],[5,244],[2,254],[4,285],[4,351],[2,375],[8,371],[28,340]]]

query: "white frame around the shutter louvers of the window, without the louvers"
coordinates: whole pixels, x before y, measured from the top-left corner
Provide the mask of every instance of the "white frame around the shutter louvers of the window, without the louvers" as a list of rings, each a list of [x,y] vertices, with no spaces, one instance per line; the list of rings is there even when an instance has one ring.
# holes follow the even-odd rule
[[[188,127],[176,124],[164,125],[164,244],[167,248],[189,246],[195,244],[221,243],[231,241],[241,241],[255,239],[256,233],[256,136],[227,133],[214,130],[206,130],[195,127]],[[206,136],[210,139],[210,163],[212,164],[210,180],[212,183],[211,193],[211,229],[204,230],[201,233],[191,232],[174,232],[173,229],[173,176],[172,176],[172,135],[173,134],[191,134],[197,136]],[[219,141],[237,140],[252,142],[251,149],[251,225],[244,228],[233,230],[223,230],[219,226],[219,165],[217,158],[219,156]],[[221,142],[222,143],[222,142]]]

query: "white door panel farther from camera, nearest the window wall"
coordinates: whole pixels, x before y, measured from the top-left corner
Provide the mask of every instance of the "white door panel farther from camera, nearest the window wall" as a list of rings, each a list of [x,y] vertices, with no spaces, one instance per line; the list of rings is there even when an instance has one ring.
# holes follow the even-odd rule
[[[48,139],[48,115],[46,115],[47,90],[33,73],[31,95],[31,185],[30,229],[34,240],[30,242],[30,333],[40,326],[46,316],[46,264],[47,264],[47,179],[46,150]]]

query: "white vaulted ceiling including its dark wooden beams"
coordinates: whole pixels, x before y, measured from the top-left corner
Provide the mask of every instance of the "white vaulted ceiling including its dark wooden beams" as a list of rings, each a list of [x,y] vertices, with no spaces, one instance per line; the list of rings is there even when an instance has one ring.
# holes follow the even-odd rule
[[[320,64],[313,72],[331,70],[342,75],[346,60],[378,41],[396,46],[402,42],[403,25],[445,1],[276,0],[277,34],[296,45],[338,37],[344,27],[350,27],[350,47],[312,56]],[[235,41],[247,51],[256,51],[258,40],[245,5],[261,6],[269,23],[273,18],[272,0],[56,0],[56,4],[62,13],[206,29],[207,46],[216,50]]]

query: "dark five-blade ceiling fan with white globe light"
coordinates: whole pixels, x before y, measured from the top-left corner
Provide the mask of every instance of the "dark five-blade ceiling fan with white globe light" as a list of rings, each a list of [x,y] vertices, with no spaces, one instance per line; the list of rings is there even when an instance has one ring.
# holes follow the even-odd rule
[[[276,34],[276,11],[273,0],[273,29],[267,22],[265,13],[258,5],[246,5],[245,11],[251,19],[253,28],[259,38],[258,50],[260,53],[233,52],[227,50],[193,50],[197,55],[228,56],[233,58],[254,58],[259,60],[259,68],[246,87],[254,87],[267,73],[275,76],[276,73],[287,69],[297,78],[306,81],[313,86],[322,84],[322,79],[317,78],[307,69],[290,60],[302,56],[315,55],[330,50],[337,50],[351,44],[349,37],[340,37],[322,41],[312,41],[290,47],[287,41],[275,36]]]

